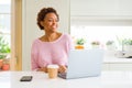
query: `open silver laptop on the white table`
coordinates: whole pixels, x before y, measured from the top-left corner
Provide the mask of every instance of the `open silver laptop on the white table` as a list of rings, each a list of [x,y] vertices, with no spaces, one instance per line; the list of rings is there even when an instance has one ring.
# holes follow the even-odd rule
[[[72,50],[67,72],[58,74],[64,79],[95,77],[101,74],[103,50]]]

